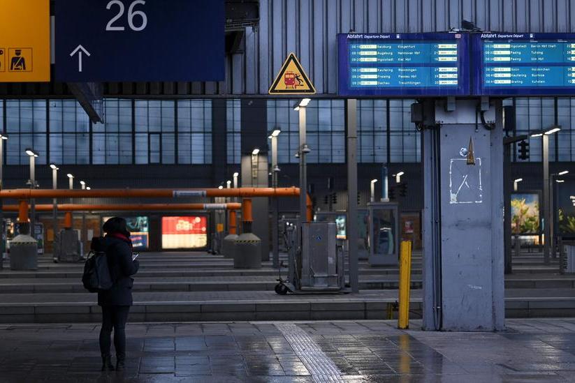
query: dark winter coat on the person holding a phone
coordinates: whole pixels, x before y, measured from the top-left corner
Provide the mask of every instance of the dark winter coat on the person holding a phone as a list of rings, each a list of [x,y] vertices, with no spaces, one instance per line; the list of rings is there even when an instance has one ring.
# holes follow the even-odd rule
[[[98,306],[132,306],[133,276],[140,263],[132,260],[132,249],[127,241],[105,236],[101,243],[108,257],[108,269],[114,285],[110,290],[98,292]]]

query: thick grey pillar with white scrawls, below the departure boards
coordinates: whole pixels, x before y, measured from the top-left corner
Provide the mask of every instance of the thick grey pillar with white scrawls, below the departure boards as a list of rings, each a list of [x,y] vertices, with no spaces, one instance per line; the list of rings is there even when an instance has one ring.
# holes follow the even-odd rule
[[[438,127],[423,132],[423,328],[504,328],[502,105],[483,117],[479,100],[444,101],[431,110]],[[467,149],[473,142],[474,165]]]

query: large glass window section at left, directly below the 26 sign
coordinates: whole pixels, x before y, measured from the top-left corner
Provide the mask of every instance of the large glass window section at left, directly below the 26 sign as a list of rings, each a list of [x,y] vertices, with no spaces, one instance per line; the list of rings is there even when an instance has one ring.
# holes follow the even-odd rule
[[[75,100],[0,100],[6,163],[131,165],[212,162],[211,100],[104,100],[105,123],[91,123]]]

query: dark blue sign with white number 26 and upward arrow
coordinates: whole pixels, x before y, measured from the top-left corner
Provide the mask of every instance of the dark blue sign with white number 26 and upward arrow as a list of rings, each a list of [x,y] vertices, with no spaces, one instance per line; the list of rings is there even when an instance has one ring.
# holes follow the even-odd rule
[[[54,3],[57,81],[224,80],[224,0]]]

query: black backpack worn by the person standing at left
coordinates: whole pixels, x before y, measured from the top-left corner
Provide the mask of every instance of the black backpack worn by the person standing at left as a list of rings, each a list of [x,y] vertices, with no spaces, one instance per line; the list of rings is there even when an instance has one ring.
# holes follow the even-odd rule
[[[110,290],[114,285],[108,268],[105,248],[103,237],[95,236],[92,239],[92,251],[90,251],[84,264],[84,274],[82,275],[82,284],[89,292]]]

